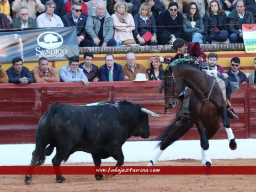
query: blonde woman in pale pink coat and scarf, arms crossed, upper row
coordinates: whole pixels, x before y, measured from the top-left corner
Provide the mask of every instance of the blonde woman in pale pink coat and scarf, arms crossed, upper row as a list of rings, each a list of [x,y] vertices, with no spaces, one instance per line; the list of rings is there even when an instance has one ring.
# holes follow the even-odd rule
[[[122,44],[134,44],[135,40],[132,31],[135,29],[135,24],[133,16],[127,12],[126,2],[123,0],[118,1],[115,4],[114,10],[115,13],[111,17],[114,25],[115,40],[117,41],[117,37],[119,36]],[[125,43],[126,40],[129,40],[130,43]]]

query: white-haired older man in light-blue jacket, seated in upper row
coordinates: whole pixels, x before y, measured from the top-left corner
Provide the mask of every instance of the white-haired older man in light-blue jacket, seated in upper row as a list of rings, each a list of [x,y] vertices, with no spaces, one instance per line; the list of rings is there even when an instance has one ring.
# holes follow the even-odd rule
[[[85,31],[90,36],[92,47],[114,47],[116,41],[111,16],[106,11],[106,4],[99,2],[92,15],[88,15]]]

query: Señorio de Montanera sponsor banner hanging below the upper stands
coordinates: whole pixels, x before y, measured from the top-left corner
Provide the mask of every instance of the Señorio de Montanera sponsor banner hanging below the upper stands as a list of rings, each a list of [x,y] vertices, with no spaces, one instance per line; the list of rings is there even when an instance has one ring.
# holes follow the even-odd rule
[[[78,56],[75,27],[56,27],[9,30],[0,32],[0,61],[11,63],[14,57],[24,62],[37,62],[40,57],[49,61],[68,60]]]

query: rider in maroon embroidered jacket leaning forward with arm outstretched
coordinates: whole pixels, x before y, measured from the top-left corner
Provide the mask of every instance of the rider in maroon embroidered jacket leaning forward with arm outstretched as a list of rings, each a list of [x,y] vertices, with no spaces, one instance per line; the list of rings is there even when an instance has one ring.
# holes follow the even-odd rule
[[[193,59],[193,60],[197,61],[202,66],[207,65],[206,55],[205,55],[203,49],[201,48],[200,44],[197,42],[188,42],[187,43],[185,40],[183,40],[181,38],[177,38],[174,41],[172,48],[177,51],[177,54],[174,57],[161,58],[158,56],[154,56],[154,57],[149,58],[150,62],[160,60],[162,63],[170,64],[175,59],[185,58],[185,59]],[[192,90],[189,87],[186,87],[184,90],[184,98],[183,98],[182,106],[181,106],[180,119],[176,122],[176,125],[178,125],[178,126],[183,126],[188,121],[190,121],[189,98],[190,98],[191,93],[192,93]],[[225,100],[226,100],[226,98],[224,98],[224,101]],[[230,104],[230,106],[231,106],[231,104]],[[229,112],[229,117],[238,119],[238,117],[235,115],[235,112],[233,110],[228,110],[228,112]]]

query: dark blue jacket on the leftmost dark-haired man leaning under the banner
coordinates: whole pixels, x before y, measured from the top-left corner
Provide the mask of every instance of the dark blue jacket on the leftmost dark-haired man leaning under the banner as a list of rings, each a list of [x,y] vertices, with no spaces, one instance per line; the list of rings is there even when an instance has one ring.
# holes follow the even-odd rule
[[[6,70],[6,73],[9,77],[9,83],[19,84],[20,83],[19,79],[23,78],[23,77],[28,78],[28,83],[34,82],[34,79],[31,75],[31,73],[29,72],[29,69],[24,66],[22,67],[22,71],[20,74],[17,74],[17,72],[14,70],[14,68],[12,66]]]

